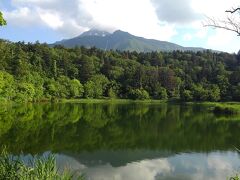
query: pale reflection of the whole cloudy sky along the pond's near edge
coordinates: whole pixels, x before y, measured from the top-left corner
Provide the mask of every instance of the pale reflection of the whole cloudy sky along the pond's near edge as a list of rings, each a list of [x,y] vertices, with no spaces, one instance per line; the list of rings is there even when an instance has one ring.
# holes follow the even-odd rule
[[[67,166],[85,173],[90,180],[226,180],[240,169],[239,155],[234,152],[178,154],[129,162],[119,167],[110,163],[84,165],[66,155],[58,155],[57,162],[60,169]]]

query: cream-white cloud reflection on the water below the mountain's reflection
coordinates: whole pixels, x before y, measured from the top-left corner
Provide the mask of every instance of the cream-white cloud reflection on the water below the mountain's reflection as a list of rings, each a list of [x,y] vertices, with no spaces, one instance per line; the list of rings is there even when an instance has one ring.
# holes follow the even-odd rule
[[[137,163],[132,162],[120,167],[113,167],[110,164],[87,167],[64,155],[57,156],[57,161],[61,163],[61,169],[71,167],[74,171],[78,170],[86,174],[88,179],[155,180],[157,175],[166,175],[174,170],[167,159],[164,158],[143,160]]]

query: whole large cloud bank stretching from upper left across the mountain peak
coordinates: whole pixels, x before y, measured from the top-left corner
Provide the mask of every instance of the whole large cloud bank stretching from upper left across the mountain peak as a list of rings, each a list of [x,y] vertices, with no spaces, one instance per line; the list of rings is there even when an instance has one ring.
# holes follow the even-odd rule
[[[15,10],[6,12],[9,23],[44,24],[61,32],[64,38],[90,28],[121,29],[159,40],[170,40],[177,34],[174,25],[159,21],[150,0],[72,0],[71,3],[68,0],[12,0],[11,3]]]

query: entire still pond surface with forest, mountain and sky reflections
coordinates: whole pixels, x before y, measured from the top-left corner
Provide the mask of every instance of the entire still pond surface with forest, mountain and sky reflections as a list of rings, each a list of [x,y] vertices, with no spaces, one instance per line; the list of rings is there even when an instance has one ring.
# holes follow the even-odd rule
[[[0,147],[55,153],[91,180],[226,180],[240,170],[240,117],[200,105],[66,103],[0,108]]]

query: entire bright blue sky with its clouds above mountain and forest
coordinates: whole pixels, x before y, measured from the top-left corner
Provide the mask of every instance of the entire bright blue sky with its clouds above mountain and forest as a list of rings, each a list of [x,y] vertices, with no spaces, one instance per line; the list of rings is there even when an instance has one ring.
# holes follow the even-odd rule
[[[1,0],[8,25],[0,29],[0,38],[52,43],[91,28],[121,29],[145,38],[232,53],[240,49],[240,37],[203,27],[203,23],[206,16],[225,18],[225,10],[239,6],[237,1]]]

